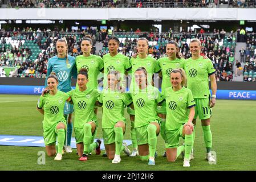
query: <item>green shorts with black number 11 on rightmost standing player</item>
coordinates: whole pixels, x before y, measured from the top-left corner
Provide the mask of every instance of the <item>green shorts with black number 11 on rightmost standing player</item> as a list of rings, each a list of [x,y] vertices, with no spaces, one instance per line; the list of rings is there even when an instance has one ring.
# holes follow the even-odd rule
[[[194,102],[196,103],[194,119],[209,119],[212,116],[212,109],[210,109],[210,97],[209,98],[195,98]]]

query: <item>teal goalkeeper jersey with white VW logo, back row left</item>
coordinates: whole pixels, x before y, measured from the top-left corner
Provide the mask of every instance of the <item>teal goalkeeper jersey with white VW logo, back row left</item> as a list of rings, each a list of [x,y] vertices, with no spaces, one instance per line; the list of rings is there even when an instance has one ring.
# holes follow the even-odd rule
[[[78,73],[76,71],[75,57],[68,55],[68,64],[66,58],[59,58],[58,56],[51,57],[47,64],[47,75],[45,86],[47,86],[47,78],[55,72],[59,80],[58,90],[68,92],[71,90],[71,78],[76,78]]]

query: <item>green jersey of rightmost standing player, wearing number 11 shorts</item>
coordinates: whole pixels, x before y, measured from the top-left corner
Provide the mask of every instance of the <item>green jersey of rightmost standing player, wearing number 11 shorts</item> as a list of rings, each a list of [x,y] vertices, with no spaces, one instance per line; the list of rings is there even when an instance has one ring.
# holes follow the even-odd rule
[[[185,61],[185,72],[188,78],[188,88],[192,91],[193,97],[208,98],[210,95],[209,75],[215,73],[212,61],[202,56],[197,60],[190,57]]]

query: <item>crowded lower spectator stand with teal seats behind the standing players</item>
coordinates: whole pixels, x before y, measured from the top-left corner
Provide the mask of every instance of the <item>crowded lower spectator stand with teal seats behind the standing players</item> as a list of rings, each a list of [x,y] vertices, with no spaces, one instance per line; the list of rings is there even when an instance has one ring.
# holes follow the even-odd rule
[[[149,40],[149,54],[159,59],[165,56],[166,43],[170,39],[176,40],[184,58],[190,57],[189,42],[193,38],[200,39],[202,43],[202,55],[208,56],[216,68],[218,81],[231,81],[233,78],[234,49],[236,44],[235,34],[226,33],[224,30],[214,30],[211,33],[200,32],[169,32],[159,33],[158,31],[129,31],[113,32],[120,40],[119,52],[131,57],[136,53],[136,41],[140,37]],[[80,41],[84,35],[90,34],[96,53],[95,44],[102,43],[103,47],[97,55],[103,56],[108,53],[108,32],[88,27],[83,32],[68,32],[68,30],[47,30],[32,28],[14,28],[13,30],[0,32],[0,67],[17,68],[12,76],[17,77],[45,77],[47,60],[55,55],[56,40],[62,37],[67,38],[68,52],[71,56],[82,54]],[[11,69],[9,69],[11,71]],[[224,73],[223,73],[224,72]],[[8,72],[9,73],[9,72]],[[9,76],[9,74],[7,74]]]

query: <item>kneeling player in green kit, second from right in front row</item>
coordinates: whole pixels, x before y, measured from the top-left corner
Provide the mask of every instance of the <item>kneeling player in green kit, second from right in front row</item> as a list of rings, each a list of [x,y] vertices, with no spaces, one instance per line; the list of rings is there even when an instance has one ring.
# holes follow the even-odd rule
[[[130,93],[135,108],[135,131],[141,160],[155,165],[157,135],[160,133],[161,119],[157,115],[157,105],[164,102],[164,96],[148,81],[145,68],[135,71],[136,86]]]

